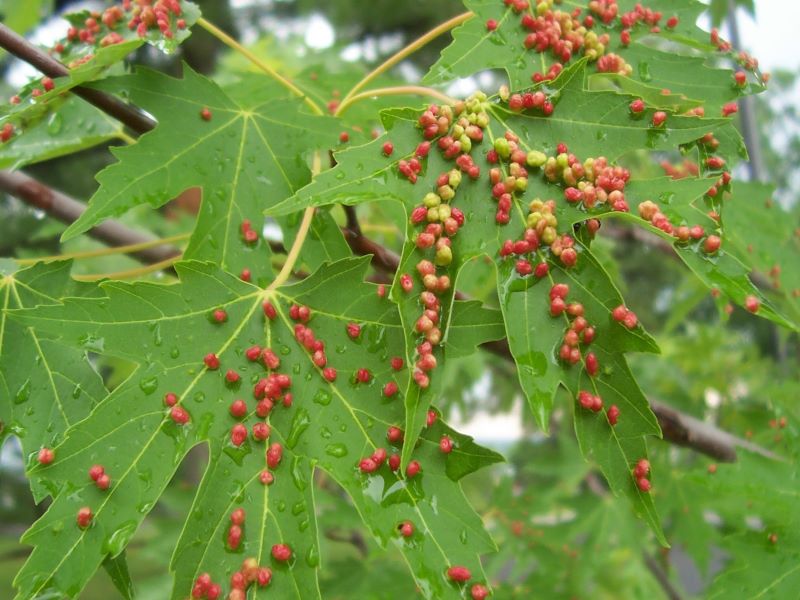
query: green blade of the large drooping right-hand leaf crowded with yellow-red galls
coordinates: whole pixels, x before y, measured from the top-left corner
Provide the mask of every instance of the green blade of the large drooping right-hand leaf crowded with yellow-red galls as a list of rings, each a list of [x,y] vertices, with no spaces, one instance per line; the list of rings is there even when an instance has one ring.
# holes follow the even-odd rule
[[[556,144],[564,142],[569,151],[581,160],[602,155],[612,162],[638,149],[667,150],[678,145],[691,144],[698,135],[708,131],[714,131],[718,139],[726,140],[720,144],[719,149],[723,156],[730,157],[741,148],[740,138],[730,122],[724,119],[670,115],[666,130],[654,130],[650,126],[650,113],[643,118],[631,116],[628,107],[630,96],[610,91],[588,91],[583,85],[582,63],[562,73],[549,89],[551,97],[557,99],[555,111],[549,117],[532,111],[514,113],[503,104],[492,104],[488,109],[489,125],[485,128],[484,137],[493,141],[510,131],[519,137],[525,152],[537,150],[554,155]],[[410,214],[414,207],[420,205],[421,197],[426,192],[436,189],[434,181],[439,174],[453,168],[452,162],[432,150],[424,161],[416,186],[411,186],[398,173],[398,161],[407,160],[420,142],[417,125],[419,114],[411,109],[384,111],[382,115],[387,129],[386,136],[371,144],[337,153],[338,164],[335,169],[316,177],[311,185],[293,198],[278,203],[272,212],[280,214],[285,210],[296,210],[298,206],[322,206],[336,202],[356,204],[390,198],[402,202]],[[387,159],[381,152],[382,144],[387,140],[395,148],[391,159]],[[484,145],[488,144],[484,142]],[[611,212],[607,205],[597,205],[587,211],[582,206],[564,202],[560,200],[564,194],[563,187],[554,185],[537,174],[528,178],[527,191],[520,194],[520,200],[512,210],[510,224],[498,227],[495,222],[496,204],[490,199],[491,185],[485,178],[486,170],[492,165],[487,165],[480,158],[484,153],[484,149],[473,149],[472,157],[483,169],[481,177],[473,182],[464,175],[454,199],[453,206],[462,210],[467,221],[464,232],[451,240],[455,257],[454,264],[447,269],[451,281],[457,279],[459,269],[465,261],[482,254],[497,259],[504,240],[519,239],[524,229],[522,221],[527,214],[527,203],[533,198],[557,199],[555,214],[558,218],[558,229],[562,232],[572,232],[573,226],[579,226],[590,216],[623,215]],[[709,223],[710,219],[693,203],[714,181],[715,179],[697,178],[678,182],[664,177],[631,181],[626,186],[625,197],[631,211],[636,211],[644,200],[652,199],[660,202],[663,210],[676,222],[699,222],[712,230],[715,229],[715,224]],[[638,218],[636,221],[641,223]],[[392,292],[392,297],[400,305],[408,332],[406,347],[409,360],[413,359],[415,347],[419,343],[413,326],[420,309],[417,294],[406,294],[400,289],[399,276],[403,273],[414,274],[415,266],[420,260],[431,258],[429,251],[420,250],[414,243],[417,231],[417,226],[408,225],[407,242]],[[513,261],[498,261],[498,294],[504,309],[509,345],[517,361],[520,383],[531,410],[539,424],[546,429],[557,388],[564,385],[576,395],[578,391],[587,389],[593,381],[585,377],[585,374],[581,375],[581,369],[565,368],[557,356],[565,323],[549,316],[548,293],[552,284],[568,283],[575,301],[582,303],[587,314],[591,314],[589,320],[596,328],[598,340],[592,350],[600,364],[607,366],[597,378],[595,389],[607,399],[606,406],[617,404],[630,417],[628,423],[623,424],[620,420],[616,428],[611,428],[605,420],[597,419],[597,415],[579,410],[575,426],[582,449],[587,456],[593,457],[600,464],[614,492],[628,496],[637,512],[661,535],[652,500],[649,495],[638,491],[630,476],[632,464],[646,454],[644,437],[659,435],[659,429],[623,358],[624,352],[652,352],[656,351],[656,346],[640,328],[628,330],[610,318],[610,311],[622,304],[623,300],[602,265],[592,257],[589,242],[585,235],[580,234],[577,242],[580,254],[578,266],[564,269],[558,261],[549,261],[548,281],[538,285],[530,280],[520,279],[514,272]],[[698,251],[698,244],[677,250],[706,282],[722,281],[731,274],[727,267],[730,260],[724,252],[709,257]],[[738,283],[744,285],[745,282],[746,277]],[[748,292],[758,293],[751,284],[748,285]],[[742,289],[735,294],[735,299],[740,302],[745,297]],[[442,322],[446,325],[453,298],[452,288],[442,298]],[[765,308],[763,315],[780,320],[769,308]],[[446,357],[449,351],[446,330],[444,340],[443,347],[435,351],[438,358]],[[435,398],[437,386],[434,376],[429,388],[420,389],[412,383],[407,390],[407,432],[421,430],[425,410]],[[588,389],[591,391],[592,388]],[[407,447],[411,447],[413,437],[407,434],[406,440],[409,444]]]

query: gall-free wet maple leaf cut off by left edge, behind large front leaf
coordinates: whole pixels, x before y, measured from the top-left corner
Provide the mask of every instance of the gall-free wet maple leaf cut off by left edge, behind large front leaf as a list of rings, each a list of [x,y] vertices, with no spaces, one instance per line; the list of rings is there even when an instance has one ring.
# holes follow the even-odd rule
[[[43,447],[52,448],[64,432],[86,417],[106,396],[86,349],[67,348],[8,318],[8,310],[58,304],[64,296],[91,296],[97,287],[70,278],[70,263],[38,264],[14,272],[0,265],[0,442],[14,435],[26,469]],[[33,486],[38,499],[44,490]]]

